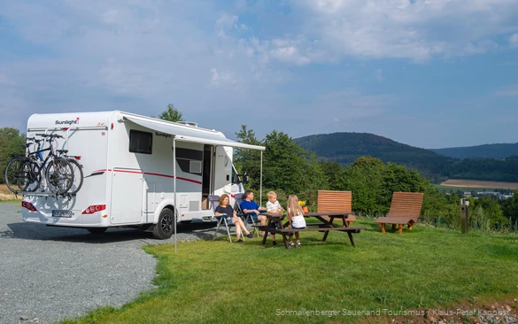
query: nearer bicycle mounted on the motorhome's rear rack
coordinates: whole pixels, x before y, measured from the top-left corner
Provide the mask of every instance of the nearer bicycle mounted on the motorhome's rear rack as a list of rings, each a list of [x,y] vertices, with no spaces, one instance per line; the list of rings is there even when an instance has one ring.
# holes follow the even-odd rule
[[[56,194],[65,194],[73,185],[73,166],[66,160],[60,158],[54,153],[52,142],[57,138],[63,138],[61,135],[36,134],[38,136],[46,137],[46,142],[49,143],[49,148],[39,150],[39,142],[42,140],[34,140],[38,143],[38,149],[31,152],[27,150],[26,155],[12,155],[11,160],[5,167],[5,184],[14,192],[29,191],[34,192],[40,188],[42,182],[42,174],[44,170],[47,186],[50,191]],[[24,146],[28,149],[31,143],[26,143]],[[49,154],[42,161],[36,158],[38,155],[43,158],[42,152],[49,150]],[[34,186],[31,187],[31,185]],[[16,188],[17,189],[16,189]],[[29,188],[30,187],[30,188]]]

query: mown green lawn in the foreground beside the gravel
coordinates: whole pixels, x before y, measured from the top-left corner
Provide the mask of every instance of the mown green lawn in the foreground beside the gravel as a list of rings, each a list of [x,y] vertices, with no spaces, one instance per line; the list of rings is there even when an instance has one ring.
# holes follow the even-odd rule
[[[306,232],[286,251],[259,239],[145,247],[158,258],[156,289],[120,309],[66,323],[353,322],[344,310],[412,310],[516,297],[518,236],[416,226],[383,235],[372,220],[354,235]],[[336,310],[337,315],[282,315]],[[279,315],[281,314],[281,315]]]

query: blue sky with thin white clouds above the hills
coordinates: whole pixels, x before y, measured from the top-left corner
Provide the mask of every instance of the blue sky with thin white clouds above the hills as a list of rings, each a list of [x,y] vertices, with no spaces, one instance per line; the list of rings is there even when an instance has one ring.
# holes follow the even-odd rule
[[[516,0],[2,1],[0,127],[122,110],[235,138],[518,142]]]

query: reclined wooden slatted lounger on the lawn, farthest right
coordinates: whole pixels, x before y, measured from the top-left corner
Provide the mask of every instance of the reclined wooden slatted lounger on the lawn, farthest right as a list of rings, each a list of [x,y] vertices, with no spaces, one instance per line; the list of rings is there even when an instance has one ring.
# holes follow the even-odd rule
[[[394,192],[387,216],[375,220],[382,227],[382,233],[386,233],[386,224],[392,224],[392,231],[395,231],[398,225],[399,234],[403,233],[405,225],[408,230],[412,230],[421,214],[423,197],[424,194],[420,192]]]

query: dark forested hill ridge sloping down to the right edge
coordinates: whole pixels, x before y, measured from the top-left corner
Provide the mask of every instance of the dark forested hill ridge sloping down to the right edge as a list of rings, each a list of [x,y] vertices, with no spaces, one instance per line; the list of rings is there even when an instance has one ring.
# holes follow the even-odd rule
[[[445,179],[518,181],[518,158],[509,157],[512,154],[506,158],[449,158],[366,133],[310,135],[294,141],[301,148],[315,152],[320,161],[348,166],[357,158],[370,156],[416,170],[434,183]]]

